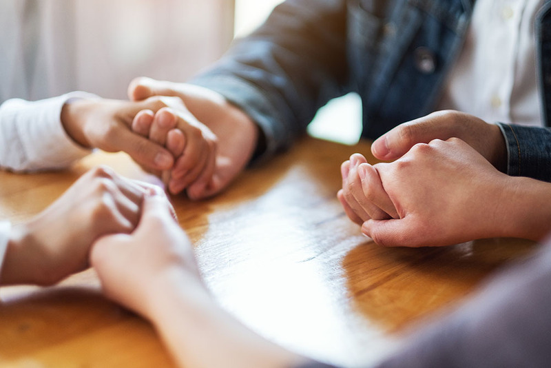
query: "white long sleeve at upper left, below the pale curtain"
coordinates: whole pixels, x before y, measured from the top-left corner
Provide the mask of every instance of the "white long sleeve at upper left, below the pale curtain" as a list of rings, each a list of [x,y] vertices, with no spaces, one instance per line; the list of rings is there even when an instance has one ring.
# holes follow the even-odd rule
[[[67,100],[97,98],[72,92],[40,101],[11,99],[0,105],[0,167],[12,171],[53,170],[90,153],[67,135],[61,109]]]

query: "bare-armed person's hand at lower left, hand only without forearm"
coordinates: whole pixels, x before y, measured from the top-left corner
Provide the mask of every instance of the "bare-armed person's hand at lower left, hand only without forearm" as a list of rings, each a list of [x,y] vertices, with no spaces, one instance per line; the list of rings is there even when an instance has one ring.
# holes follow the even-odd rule
[[[189,239],[171,216],[167,198],[156,193],[146,194],[132,234],[100,238],[90,253],[105,294],[150,318],[152,298],[165,284],[176,280],[180,287],[205,289]]]

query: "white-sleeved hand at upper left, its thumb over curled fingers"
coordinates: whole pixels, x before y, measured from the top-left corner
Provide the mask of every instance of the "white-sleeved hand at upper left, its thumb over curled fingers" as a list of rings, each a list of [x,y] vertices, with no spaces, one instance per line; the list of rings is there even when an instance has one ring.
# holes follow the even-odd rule
[[[152,97],[143,101],[79,99],[65,103],[61,123],[69,136],[83,147],[107,152],[123,151],[146,170],[169,170],[174,157],[163,145],[132,132],[134,116],[141,110],[184,109],[176,97]]]

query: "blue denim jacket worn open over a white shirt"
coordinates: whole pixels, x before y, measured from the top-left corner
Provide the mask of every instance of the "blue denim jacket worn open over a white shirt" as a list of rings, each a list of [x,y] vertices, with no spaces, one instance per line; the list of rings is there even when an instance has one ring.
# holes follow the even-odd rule
[[[362,137],[376,139],[433,112],[473,6],[473,0],[288,0],[192,83],[220,92],[258,123],[264,156],[288,147],[320,107],[348,92],[362,98]],[[550,8],[545,1],[536,25],[548,127]],[[550,130],[500,127],[508,173],[551,181]]]

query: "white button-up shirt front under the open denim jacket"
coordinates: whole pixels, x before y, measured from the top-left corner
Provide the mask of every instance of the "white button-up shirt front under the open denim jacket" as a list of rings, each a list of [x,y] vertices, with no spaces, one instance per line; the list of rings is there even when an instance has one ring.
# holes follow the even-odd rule
[[[543,125],[536,82],[534,21],[541,0],[477,0],[439,109],[488,123]]]

